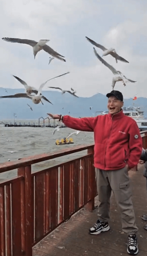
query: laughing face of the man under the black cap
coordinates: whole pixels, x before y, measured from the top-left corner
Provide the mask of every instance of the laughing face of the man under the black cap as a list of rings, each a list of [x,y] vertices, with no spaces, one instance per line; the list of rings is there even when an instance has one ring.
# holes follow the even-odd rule
[[[111,96],[108,98],[107,108],[111,115],[114,115],[121,111],[123,106],[123,101],[118,100],[115,96]]]

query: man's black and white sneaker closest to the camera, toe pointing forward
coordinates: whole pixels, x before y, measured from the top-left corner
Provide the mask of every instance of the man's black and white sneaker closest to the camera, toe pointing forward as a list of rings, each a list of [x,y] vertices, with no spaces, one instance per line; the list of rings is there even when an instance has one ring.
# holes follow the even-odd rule
[[[137,236],[135,234],[128,236],[127,252],[131,255],[138,253]]]

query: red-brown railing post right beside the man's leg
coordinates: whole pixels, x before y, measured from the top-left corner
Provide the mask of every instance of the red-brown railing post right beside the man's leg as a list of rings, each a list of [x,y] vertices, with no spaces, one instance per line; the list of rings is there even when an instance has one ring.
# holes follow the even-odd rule
[[[88,154],[92,154],[94,156],[94,147],[88,149]],[[94,210],[94,197],[95,197],[95,168],[93,166],[93,156],[89,162],[89,197],[91,201],[86,204],[86,210],[93,211]]]

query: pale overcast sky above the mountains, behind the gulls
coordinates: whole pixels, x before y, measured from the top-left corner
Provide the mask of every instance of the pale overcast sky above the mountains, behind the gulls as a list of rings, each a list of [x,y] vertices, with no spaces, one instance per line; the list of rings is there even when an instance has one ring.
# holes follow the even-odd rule
[[[51,77],[70,74],[47,86],[74,88],[78,96],[90,97],[112,90],[112,72],[93,53],[85,36],[129,61],[103,57],[116,70],[136,83],[117,82],[124,98],[147,97],[147,1],[145,0],[1,0],[0,36],[21,39],[50,39],[47,43],[66,62],[40,51],[34,60],[32,47],[0,39],[0,87],[23,88],[12,75],[36,88]],[[96,48],[100,56],[103,51]]]

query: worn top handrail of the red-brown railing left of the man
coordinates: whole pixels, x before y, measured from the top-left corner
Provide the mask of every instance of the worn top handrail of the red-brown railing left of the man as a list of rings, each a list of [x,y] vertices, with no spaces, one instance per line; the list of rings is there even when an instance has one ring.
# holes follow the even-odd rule
[[[76,153],[79,151],[87,150],[94,146],[94,144],[85,144],[85,145],[78,145],[73,147],[69,147],[67,149],[61,149],[59,151],[55,151],[52,153],[43,153],[35,156],[28,156],[26,158],[22,158],[20,160],[16,160],[13,162],[4,162],[0,164],[0,173],[7,172],[10,170],[14,170],[16,168],[25,167],[31,164],[35,164],[38,162],[47,161],[53,158],[57,158],[60,156],[69,155],[72,153]]]

